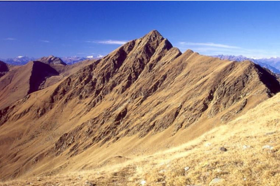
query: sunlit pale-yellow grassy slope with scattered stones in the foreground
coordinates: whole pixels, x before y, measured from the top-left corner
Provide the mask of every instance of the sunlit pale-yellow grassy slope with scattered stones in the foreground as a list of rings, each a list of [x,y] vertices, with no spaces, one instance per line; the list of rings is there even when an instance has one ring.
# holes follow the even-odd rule
[[[99,169],[0,185],[279,185],[279,110],[278,94],[172,149]]]

